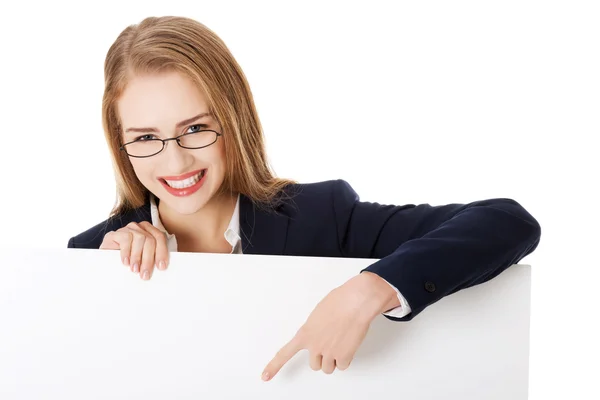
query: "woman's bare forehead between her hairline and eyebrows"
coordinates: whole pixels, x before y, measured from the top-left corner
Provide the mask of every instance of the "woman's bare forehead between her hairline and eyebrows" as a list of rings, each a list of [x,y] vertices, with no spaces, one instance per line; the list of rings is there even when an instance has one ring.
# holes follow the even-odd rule
[[[208,112],[204,94],[178,72],[133,77],[117,102],[124,129],[170,128],[190,116]]]

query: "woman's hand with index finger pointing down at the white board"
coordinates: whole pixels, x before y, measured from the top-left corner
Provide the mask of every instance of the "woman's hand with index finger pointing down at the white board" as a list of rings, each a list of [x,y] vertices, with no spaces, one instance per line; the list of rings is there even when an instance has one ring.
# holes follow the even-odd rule
[[[310,367],[331,374],[350,366],[375,317],[400,305],[395,290],[381,277],[363,272],[332,290],[315,307],[294,338],[265,368],[270,380],[300,350],[310,352]]]

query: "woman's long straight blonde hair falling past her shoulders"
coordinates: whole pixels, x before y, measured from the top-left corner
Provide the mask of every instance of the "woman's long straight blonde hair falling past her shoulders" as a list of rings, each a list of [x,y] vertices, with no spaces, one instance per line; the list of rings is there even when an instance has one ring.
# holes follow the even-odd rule
[[[225,43],[198,21],[184,17],[149,17],[117,37],[104,63],[102,124],[115,177],[117,200],[111,216],[141,207],[148,190],[120,150],[117,101],[136,74],[177,71],[201,90],[209,112],[221,125],[227,168],[219,193],[241,193],[259,206],[273,205],[295,181],[275,177],[265,151],[262,126],[250,86]]]

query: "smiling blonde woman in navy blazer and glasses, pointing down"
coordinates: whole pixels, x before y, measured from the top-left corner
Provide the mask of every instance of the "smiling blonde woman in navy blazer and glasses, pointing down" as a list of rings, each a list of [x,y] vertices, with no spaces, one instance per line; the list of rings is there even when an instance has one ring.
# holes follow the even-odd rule
[[[143,279],[166,269],[172,251],[380,259],[317,305],[265,380],[301,349],[314,370],[346,369],[380,313],[411,320],[539,243],[538,222],[511,199],[380,205],[359,201],[343,180],[275,177],[242,70],[196,21],[147,18],[125,29],[108,51],[105,84],[118,201],[69,247],[119,250]]]

